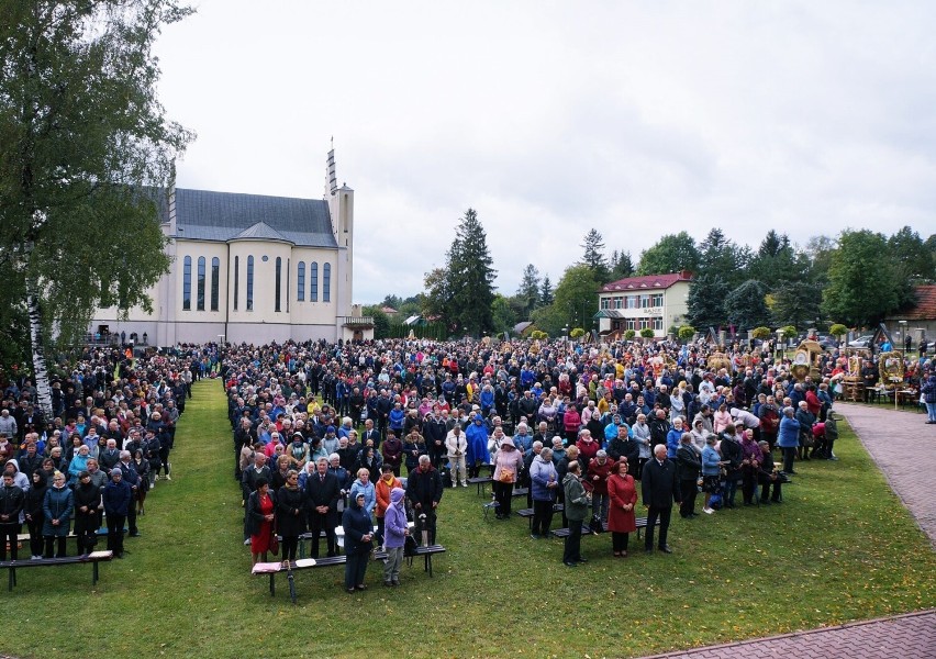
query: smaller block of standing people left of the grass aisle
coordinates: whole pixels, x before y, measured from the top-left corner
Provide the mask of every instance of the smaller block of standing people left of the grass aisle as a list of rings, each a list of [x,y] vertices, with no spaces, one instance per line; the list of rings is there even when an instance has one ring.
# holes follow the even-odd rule
[[[31,559],[67,556],[74,534],[87,557],[107,528],[107,548],[123,558],[124,536],[141,535],[147,492],[171,480],[176,425],[213,347],[183,346],[134,358],[122,347],[92,347],[51,377],[45,418],[29,378],[10,381],[0,403],[0,560],[19,560],[29,532]]]

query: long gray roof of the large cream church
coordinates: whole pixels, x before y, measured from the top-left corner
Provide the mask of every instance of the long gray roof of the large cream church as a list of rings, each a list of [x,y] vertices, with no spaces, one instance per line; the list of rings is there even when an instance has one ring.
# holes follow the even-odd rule
[[[328,203],[320,199],[177,188],[176,231],[176,237],[191,241],[253,237],[337,247]]]

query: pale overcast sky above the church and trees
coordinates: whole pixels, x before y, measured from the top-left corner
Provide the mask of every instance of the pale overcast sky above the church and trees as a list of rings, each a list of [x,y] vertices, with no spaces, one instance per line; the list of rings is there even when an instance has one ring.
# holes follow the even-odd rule
[[[159,43],[178,186],[355,189],[356,302],[423,289],[478,211],[513,294],[590,227],[936,232],[936,2],[202,0]]]

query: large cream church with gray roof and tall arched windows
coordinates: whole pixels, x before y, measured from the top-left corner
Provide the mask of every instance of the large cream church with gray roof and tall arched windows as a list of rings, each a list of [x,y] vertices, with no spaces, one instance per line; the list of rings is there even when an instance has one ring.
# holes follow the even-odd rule
[[[90,332],[155,346],[372,338],[352,304],[354,190],[328,153],[324,199],[169,190],[160,204],[171,266],[153,312],[101,309]]]

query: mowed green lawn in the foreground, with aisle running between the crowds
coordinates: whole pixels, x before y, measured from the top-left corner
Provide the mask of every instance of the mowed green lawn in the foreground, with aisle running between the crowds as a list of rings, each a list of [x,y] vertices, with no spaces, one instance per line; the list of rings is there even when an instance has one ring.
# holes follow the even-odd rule
[[[283,578],[272,599],[249,574],[224,395],[200,382],[132,554],[96,589],[86,566],[21,570],[0,651],[635,657],[936,606],[936,554],[843,429],[840,461],[798,465],[782,505],[675,515],[671,556],[632,536],[632,556],[612,559],[610,536],[586,537],[590,562],[569,569],[560,540],[530,539],[519,517],[486,522],[475,488],[459,488],[441,506],[434,579],[417,561],[385,590],[375,563],[370,590],[348,595],[343,569],[305,570],[293,606]]]

